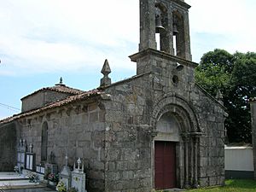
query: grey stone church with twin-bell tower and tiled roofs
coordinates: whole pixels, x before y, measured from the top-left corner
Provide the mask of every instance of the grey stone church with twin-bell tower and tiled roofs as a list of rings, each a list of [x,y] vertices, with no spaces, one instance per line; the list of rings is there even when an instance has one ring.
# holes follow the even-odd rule
[[[88,192],[224,184],[226,113],[221,96],[195,83],[190,6],[183,0],[139,6],[139,50],[130,56],[137,74],[111,83],[106,60],[95,90],[60,82],[23,97],[22,112],[0,120],[0,171],[13,170],[24,140],[36,165],[49,154],[59,170],[66,155],[69,166],[81,158]]]

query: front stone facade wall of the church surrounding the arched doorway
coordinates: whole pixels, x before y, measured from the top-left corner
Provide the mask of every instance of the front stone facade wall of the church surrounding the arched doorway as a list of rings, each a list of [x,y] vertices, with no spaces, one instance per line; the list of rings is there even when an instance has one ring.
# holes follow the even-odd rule
[[[154,189],[150,123],[154,105],[170,95],[181,98],[189,106],[187,112],[195,116],[198,126],[194,131],[202,133],[197,154],[199,184],[223,184],[224,109],[195,84],[193,67],[184,65],[182,71],[176,71],[176,61],[153,55],[146,55],[139,62],[152,73],[113,84],[106,90],[112,96],[112,102],[104,103],[108,125],[106,191]],[[169,104],[177,103],[174,99]],[[192,184],[190,173],[189,180]]]

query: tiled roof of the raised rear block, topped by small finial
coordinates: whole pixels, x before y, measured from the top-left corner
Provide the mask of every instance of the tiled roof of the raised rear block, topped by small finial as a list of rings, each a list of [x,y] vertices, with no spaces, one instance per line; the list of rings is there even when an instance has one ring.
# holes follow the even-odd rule
[[[77,94],[81,94],[81,93],[84,92],[84,90],[73,89],[71,87],[66,86],[65,84],[56,84],[53,87],[44,87],[40,90],[37,90],[37,91],[33,92],[32,94],[24,96],[23,98],[21,98],[21,100],[25,99],[28,96],[32,96],[32,95],[34,95],[34,94],[36,94],[40,91],[44,91],[44,90],[52,90],[52,91],[55,91],[55,92],[68,93],[68,94],[71,94],[71,95],[77,95]]]

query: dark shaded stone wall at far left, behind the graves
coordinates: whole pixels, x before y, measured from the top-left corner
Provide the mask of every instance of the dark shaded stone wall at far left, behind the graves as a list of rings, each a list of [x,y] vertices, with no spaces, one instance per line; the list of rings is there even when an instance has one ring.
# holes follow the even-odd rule
[[[13,172],[16,165],[15,123],[0,125],[0,172]]]

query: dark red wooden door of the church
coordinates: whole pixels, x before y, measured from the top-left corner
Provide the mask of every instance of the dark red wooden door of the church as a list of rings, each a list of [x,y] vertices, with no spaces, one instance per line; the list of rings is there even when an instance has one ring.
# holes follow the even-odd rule
[[[176,187],[175,143],[154,143],[154,187],[172,189]]]

